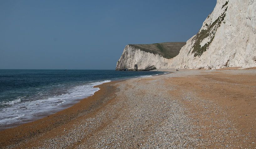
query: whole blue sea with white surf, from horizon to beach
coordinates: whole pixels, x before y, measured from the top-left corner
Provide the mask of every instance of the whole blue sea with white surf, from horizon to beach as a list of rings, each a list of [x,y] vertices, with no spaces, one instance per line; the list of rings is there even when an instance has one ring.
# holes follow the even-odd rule
[[[160,71],[0,70],[0,127],[42,118],[93,95],[112,80],[164,74]]]

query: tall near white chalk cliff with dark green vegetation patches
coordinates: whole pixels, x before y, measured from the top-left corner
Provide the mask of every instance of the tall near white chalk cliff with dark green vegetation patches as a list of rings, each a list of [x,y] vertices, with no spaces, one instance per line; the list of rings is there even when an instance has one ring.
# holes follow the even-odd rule
[[[199,33],[173,58],[170,68],[256,66],[256,1],[217,0]]]

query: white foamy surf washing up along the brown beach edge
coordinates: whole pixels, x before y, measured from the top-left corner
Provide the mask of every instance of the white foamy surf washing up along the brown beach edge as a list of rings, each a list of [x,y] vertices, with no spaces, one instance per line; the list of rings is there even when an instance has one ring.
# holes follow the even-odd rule
[[[99,88],[96,85],[111,82],[111,80],[87,83],[75,86],[67,90],[64,94],[51,97],[44,97],[40,100],[29,100],[21,102],[20,99],[6,102],[11,105],[0,112],[0,124],[19,123],[22,120],[27,121],[32,118],[40,118],[40,115],[51,114],[77,103],[79,99],[92,96]],[[25,113],[25,115],[24,115]]]

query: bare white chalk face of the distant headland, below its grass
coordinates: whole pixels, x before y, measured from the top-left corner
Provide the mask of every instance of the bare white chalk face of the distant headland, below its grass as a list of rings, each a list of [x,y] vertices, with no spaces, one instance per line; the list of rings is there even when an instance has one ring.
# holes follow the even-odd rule
[[[154,55],[127,45],[117,62],[116,70],[164,69],[170,67],[170,61],[170,59],[168,60],[161,55]]]

